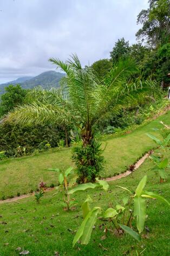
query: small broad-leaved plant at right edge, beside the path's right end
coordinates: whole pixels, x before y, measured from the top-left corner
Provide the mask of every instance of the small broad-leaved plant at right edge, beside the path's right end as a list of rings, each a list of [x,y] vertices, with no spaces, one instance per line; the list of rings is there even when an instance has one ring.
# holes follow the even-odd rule
[[[155,166],[152,168],[152,170],[156,171],[160,175],[160,183],[164,182],[167,178],[166,171],[168,168],[170,168],[170,165],[168,164],[168,158],[161,159],[161,157],[158,156],[149,156],[149,158],[154,162]]]

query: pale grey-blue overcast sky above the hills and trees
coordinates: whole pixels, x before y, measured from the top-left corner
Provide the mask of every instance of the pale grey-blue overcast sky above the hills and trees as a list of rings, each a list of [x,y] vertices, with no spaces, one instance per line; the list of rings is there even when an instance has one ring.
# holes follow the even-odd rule
[[[135,42],[147,0],[0,0],[0,84],[54,69],[49,57],[77,53],[83,65]]]

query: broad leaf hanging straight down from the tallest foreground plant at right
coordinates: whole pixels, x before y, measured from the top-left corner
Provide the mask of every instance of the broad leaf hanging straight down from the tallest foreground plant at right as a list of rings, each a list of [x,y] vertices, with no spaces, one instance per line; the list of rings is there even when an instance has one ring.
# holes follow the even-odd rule
[[[143,231],[146,219],[146,204],[142,197],[134,197],[134,216],[136,216],[136,226],[139,233]]]

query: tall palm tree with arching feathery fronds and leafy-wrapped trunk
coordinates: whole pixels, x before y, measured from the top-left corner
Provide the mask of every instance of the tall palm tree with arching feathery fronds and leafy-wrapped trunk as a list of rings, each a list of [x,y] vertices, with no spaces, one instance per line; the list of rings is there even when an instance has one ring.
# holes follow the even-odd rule
[[[72,55],[66,62],[55,58],[50,58],[49,61],[66,73],[66,77],[61,80],[61,86],[67,92],[68,99],[64,99],[62,93],[56,89],[34,89],[29,93],[30,103],[15,108],[5,119],[21,124],[43,123],[79,127],[83,151],[75,152],[74,161],[82,182],[94,180],[102,169],[103,162],[100,146],[94,139],[97,123],[110,113],[143,103],[148,93],[154,93],[156,82],[140,79],[132,82],[132,75],[138,71],[133,59],[120,59],[102,82],[97,80],[93,69],[82,68],[77,55]],[[89,153],[87,148],[93,148],[94,151]],[[95,158],[97,152],[98,157]],[[93,174],[89,175],[88,172]]]

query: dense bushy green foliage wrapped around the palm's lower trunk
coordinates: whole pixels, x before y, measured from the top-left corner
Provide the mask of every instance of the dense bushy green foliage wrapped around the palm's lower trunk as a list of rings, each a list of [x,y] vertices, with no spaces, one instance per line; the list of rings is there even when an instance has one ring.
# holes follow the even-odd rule
[[[95,177],[99,176],[104,170],[103,150],[100,149],[99,142],[91,142],[90,145],[75,146],[73,148],[73,161],[76,165],[76,173],[79,176],[78,183],[94,182]]]

